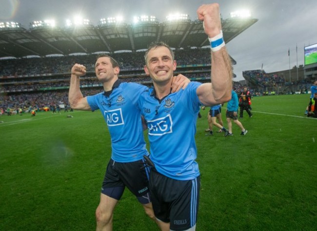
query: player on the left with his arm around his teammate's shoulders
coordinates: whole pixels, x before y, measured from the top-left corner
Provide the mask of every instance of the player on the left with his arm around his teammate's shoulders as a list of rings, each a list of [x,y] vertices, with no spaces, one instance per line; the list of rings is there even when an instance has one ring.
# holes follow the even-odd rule
[[[148,155],[148,152],[145,148],[144,127],[137,102],[138,96],[147,87],[133,82],[122,82],[118,77],[118,62],[107,55],[97,59],[95,72],[104,91],[94,96],[83,97],[79,88],[79,77],[86,74],[86,67],[76,63],[71,70],[68,99],[71,108],[76,110],[100,109],[111,136],[111,159],[96,210],[97,230],[112,230],[113,213],[125,187],[137,197],[149,217],[157,222],[148,190],[148,168],[141,168],[144,167],[143,156]],[[173,90],[176,91],[186,87],[189,82],[189,79],[182,75],[173,79]],[[160,229],[169,230],[164,226],[160,226]]]

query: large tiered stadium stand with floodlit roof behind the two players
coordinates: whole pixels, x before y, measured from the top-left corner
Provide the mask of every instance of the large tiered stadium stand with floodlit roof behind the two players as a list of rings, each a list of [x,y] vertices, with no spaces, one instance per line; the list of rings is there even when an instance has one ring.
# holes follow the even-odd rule
[[[258,19],[221,19],[226,43]],[[120,64],[120,78],[151,85],[143,70],[144,52],[152,41],[162,40],[175,48],[177,72],[191,80],[209,81],[210,49],[202,22],[143,21],[137,25],[99,23],[80,27],[52,28],[45,23],[27,30],[20,23],[0,27],[0,108],[12,111],[67,104],[70,69],[74,63],[87,67],[81,80],[84,95],[102,91],[96,81],[97,55],[107,53]],[[13,25],[13,26],[12,26]],[[207,48],[205,48],[207,47]],[[122,52],[124,51],[124,52]],[[84,55],[74,55],[81,53]],[[32,57],[32,58],[29,58]],[[232,58],[232,63],[236,61]]]

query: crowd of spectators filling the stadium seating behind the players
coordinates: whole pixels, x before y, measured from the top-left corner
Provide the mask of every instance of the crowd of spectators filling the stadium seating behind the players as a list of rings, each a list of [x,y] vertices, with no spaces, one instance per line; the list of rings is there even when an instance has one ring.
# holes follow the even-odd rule
[[[189,49],[175,50],[178,73],[191,80],[209,79],[210,50]],[[102,85],[95,77],[95,55],[77,55],[66,57],[20,58],[0,60],[0,109],[6,112],[21,109],[28,111],[30,107],[43,110],[44,107],[68,104],[68,87],[70,69],[75,63],[87,67],[87,75],[80,81],[83,94],[92,95],[102,91]],[[126,82],[138,82],[151,85],[152,80],[144,74],[144,52],[125,52],[111,54],[119,61],[119,77]],[[207,70],[207,71],[205,71]],[[210,69],[209,69],[210,70]],[[285,84],[283,76],[269,75],[263,70],[243,72],[243,77],[266,87]],[[300,80],[301,89],[308,89],[310,83]],[[235,82],[235,91],[242,92],[243,86]],[[258,89],[249,89],[253,96],[263,95]],[[264,94],[265,95],[265,94]]]

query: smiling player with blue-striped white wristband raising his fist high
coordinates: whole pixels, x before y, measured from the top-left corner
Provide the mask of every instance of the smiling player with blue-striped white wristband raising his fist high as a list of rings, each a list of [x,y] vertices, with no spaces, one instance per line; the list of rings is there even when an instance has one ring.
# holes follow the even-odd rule
[[[141,94],[139,107],[150,141],[150,193],[155,216],[170,230],[196,229],[199,201],[199,169],[196,162],[196,121],[200,105],[229,101],[232,89],[231,62],[224,46],[217,3],[198,8],[205,33],[211,41],[211,82],[190,82],[171,93],[176,61],[164,42],[150,44],[144,71],[154,88]]]

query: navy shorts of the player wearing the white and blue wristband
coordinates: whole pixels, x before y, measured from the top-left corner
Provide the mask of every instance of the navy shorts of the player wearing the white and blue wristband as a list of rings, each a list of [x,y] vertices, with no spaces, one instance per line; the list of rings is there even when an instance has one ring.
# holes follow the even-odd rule
[[[175,180],[156,171],[150,174],[150,193],[155,216],[170,222],[170,229],[188,230],[196,225],[200,176],[193,180]]]

